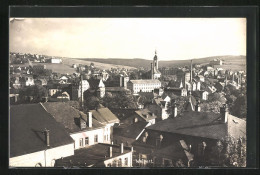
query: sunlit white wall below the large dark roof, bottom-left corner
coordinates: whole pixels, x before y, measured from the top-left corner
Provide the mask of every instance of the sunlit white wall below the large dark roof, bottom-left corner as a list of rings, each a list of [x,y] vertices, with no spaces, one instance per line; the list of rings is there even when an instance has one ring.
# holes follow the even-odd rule
[[[10,167],[35,167],[36,164],[40,163],[45,167],[45,157],[46,157],[46,167],[53,167],[56,159],[61,157],[67,157],[74,155],[73,143],[59,146],[46,151],[38,151],[30,154],[25,154],[22,156],[12,157],[9,159]]]

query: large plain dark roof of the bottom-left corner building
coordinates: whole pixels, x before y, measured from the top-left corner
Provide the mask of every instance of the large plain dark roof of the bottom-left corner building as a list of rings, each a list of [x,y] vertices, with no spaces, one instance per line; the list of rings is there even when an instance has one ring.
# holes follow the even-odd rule
[[[50,147],[73,143],[65,128],[41,104],[22,104],[10,108],[10,157],[45,150],[42,131],[50,130]]]

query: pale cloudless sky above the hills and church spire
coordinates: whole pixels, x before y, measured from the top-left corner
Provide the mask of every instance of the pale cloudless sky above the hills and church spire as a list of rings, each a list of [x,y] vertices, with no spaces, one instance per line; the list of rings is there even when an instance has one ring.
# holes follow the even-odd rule
[[[71,58],[184,60],[246,55],[246,18],[23,18],[11,52]]]

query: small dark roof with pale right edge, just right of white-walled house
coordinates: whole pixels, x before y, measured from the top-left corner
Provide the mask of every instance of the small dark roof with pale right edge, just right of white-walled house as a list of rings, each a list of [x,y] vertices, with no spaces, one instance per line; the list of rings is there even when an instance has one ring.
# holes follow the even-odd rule
[[[147,126],[148,122],[139,121],[124,128],[114,128],[113,135],[136,139]]]

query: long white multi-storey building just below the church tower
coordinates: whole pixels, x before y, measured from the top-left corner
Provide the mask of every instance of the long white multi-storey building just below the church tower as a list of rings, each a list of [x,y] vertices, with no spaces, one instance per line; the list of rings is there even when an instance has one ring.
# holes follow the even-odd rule
[[[130,80],[127,88],[130,89],[134,94],[138,92],[152,92],[154,89],[159,89],[161,82],[157,79],[151,80]]]

